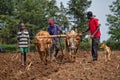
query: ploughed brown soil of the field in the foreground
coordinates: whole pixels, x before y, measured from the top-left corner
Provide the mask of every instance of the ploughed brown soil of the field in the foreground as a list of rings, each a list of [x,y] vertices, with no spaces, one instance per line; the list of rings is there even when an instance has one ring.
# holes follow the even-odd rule
[[[47,65],[37,53],[28,53],[26,66],[21,65],[19,53],[0,53],[0,80],[120,80],[120,51],[113,51],[107,63],[103,51],[94,62],[89,51],[78,51],[75,62],[65,54],[62,64]]]

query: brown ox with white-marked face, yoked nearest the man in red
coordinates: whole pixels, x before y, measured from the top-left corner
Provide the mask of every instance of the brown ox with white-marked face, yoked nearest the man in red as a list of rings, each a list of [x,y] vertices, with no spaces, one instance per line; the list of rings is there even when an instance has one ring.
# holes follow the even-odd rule
[[[65,39],[66,49],[67,49],[67,52],[69,53],[70,61],[75,61],[76,53],[77,53],[80,41],[81,41],[81,34],[78,34],[74,30],[66,34],[66,39]]]

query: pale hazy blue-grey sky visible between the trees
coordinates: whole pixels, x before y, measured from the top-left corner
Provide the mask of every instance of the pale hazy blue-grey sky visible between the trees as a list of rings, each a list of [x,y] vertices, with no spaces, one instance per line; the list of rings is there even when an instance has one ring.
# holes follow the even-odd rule
[[[60,2],[63,2],[65,7],[67,7],[67,3],[69,0],[57,0],[57,5],[59,5]],[[112,2],[115,0],[92,0],[92,5],[87,11],[92,11],[94,15],[99,19],[99,23],[101,24],[101,41],[107,40],[110,35],[108,35],[109,28],[105,24],[106,21],[106,15],[111,13],[109,10],[109,5],[112,4]]]

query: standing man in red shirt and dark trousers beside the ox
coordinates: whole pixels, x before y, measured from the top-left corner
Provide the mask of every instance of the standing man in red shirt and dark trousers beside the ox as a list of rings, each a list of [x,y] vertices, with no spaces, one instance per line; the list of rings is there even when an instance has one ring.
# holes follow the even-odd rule
[[[97,61],[98,59],[98,43],[100,40],[100,24],[98,23],[98,19],[93,17],[93,13],[91,11],[87,12],[87,18],[88,18],[88,26],[89,28],[85,31],[90,31],[90,35],[92,38],[92,57],[93,61]]]

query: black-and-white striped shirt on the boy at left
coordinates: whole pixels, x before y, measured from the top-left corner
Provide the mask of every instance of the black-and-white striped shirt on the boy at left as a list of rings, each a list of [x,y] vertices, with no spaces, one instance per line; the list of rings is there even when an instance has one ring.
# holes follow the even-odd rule
[[[27,30],[18,31],[17,33],[19,47],[28,47],[29,32]]]

